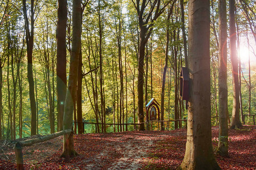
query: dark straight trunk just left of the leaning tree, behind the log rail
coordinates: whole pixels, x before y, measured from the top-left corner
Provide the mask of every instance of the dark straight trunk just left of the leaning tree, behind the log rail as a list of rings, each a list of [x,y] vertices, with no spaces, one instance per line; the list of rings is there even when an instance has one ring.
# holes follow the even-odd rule
[[[58,0],[58,22],[57,22],[57,112],[58,130],[63,130],[64,102],[67,92],[67,49],[66,49],[66,29],[67,29],[67,0]]]

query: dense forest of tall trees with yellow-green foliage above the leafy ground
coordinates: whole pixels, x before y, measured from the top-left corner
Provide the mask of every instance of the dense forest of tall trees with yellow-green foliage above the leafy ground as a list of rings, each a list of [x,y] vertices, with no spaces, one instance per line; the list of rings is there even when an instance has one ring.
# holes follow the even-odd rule
[[[0,141],[72,129],[69,159],[73,134],[218,126],[226,156],[228,129],[255,127],[255,0],[0,2]]]

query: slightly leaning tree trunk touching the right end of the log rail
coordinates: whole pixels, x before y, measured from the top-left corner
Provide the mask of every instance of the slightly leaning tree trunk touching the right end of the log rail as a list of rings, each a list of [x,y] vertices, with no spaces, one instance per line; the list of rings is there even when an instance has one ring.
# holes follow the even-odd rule
[[[73,101],[76,97],[77,72],[81,50],[81,0],[73,0],[72,8],[72,49],[69,66],[68,90],[65,98],[63,130],[73,129]],[[63,157],[69,160],[70,156],[76,156],[73,133],[65,134],[63,139]]]

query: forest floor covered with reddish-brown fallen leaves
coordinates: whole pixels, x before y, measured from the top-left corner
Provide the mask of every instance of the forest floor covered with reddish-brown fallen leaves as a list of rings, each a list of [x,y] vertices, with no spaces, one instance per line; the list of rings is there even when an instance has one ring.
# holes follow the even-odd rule
[[[229,130],[229,158],[221,169],[256,169],[256,126]],[[212,128],[215,152],[218,127]],[[75,135],[79,154],[60,158],[62,137],[23,148],[25,169],[176,169],[185,153],[186,129]],[[0,141],[0,169],[15,169],[15,142]]]

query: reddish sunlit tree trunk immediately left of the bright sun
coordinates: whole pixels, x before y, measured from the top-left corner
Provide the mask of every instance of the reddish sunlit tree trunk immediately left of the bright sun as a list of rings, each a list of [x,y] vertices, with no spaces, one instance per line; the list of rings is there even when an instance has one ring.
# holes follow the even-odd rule
[[[239,83],[238,83],[238,59],[236,48],[236,23],[235,23],[235,1],[229,0],[229,43],[230,43],[230,60],[232,65],[233,78],[233,110],[230,128],[241,128],[240,121],[240,101],[239,101]]]

